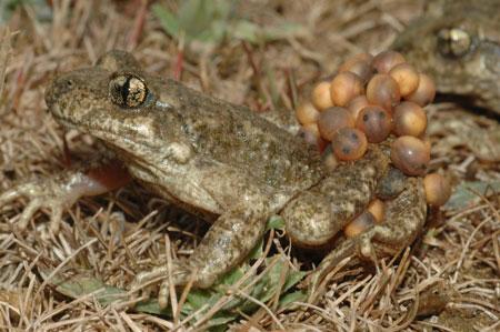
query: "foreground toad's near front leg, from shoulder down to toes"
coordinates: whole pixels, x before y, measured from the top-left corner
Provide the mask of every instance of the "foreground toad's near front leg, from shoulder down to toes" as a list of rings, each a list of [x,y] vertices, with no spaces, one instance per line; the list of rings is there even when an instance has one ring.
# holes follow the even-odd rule
[[[168,304],[169,282],[176,286],[192,282],[194,288],[209,288],[243,261],[276,212],[271,195],[251,177],[241,177],[237,170],[220,164],[207,167],[198,175],[202,181],[197,185],[196,202],[211,201],[211,211],[219,218],[188,259],[172,262],[170,280],[168,265],[162,265],[139,273],[130,288],[134,292],[163,280],[158,296],[161,308]],[[184,199],[187,204],[191,203],[189,197]]]

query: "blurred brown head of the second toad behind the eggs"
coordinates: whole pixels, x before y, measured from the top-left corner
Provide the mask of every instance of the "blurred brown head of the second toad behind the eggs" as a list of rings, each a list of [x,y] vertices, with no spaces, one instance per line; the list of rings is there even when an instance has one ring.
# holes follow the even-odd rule
[[[408,62],[429,74],[438,91],[466,97],[500,114],[500,10],[498,0],[431,1],[426,14],[392,46]],[[460,29],[471,40],[452,56],[439,42],[442,29]]]

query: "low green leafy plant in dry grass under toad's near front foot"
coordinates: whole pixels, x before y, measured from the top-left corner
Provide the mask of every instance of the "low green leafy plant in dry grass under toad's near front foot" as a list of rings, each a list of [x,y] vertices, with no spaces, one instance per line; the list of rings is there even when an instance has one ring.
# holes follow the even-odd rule
[[[268,221],[268,230],[282,228],[283,220],[281,218],[271,218]],[[212,288],[191,290],[182,305],[180,320],[193,315],[189,325],[201,320],[203,326],[210,328],[211,331],[218,331],[224,330],[227,324],[240,319],[242,314],[249,315],[256,312],[260,308],[258,303],[264,303],[279,310],[287,308],[292,302],[306,301],[306,291],[293,290],[293,286],[306,276],[307,272],[291,269],[288,259],[282,253],[266,258],[259,266],[261,273],[240,282],[247,273],[251,273],[250,261],[261,259],[262,255],[263,241],[261,240],[250,253],[247,262],[227,273]],[[51,274],[50,271],[40,271],[40,273],[43,279]],[[96,279],[92,271],[80,271],[71,278],[56,274],[50,278],[50,284],[67,296],[73,299],[90,296],[97,299],[102,305],[128,300],[126,290],[107,285]],[[252,301],[252,299],[258,301]],[[212,309],[217,310],[210,314]],[[134,310],[172,318],[171,309],[160,309],[158,299],[154,298],[137,303]]]

